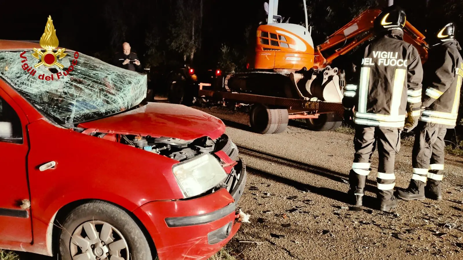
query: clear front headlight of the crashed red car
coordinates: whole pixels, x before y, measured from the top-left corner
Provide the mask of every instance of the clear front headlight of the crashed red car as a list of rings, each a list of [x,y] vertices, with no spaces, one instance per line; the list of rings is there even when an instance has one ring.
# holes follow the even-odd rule
[[[209,154],[176,164],[172,171],[185,198],[212,189],[227,176],[219,161]]]

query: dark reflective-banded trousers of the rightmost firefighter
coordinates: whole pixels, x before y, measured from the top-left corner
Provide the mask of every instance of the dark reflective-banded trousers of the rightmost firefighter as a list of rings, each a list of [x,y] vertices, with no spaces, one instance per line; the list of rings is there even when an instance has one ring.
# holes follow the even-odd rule
[[[444,177],[444,137],[446,128],[424,126],[420,124],[415,133],[413,144],[412,166],[413,174],[410,186],[422,191],[426,180],[436,182]]]

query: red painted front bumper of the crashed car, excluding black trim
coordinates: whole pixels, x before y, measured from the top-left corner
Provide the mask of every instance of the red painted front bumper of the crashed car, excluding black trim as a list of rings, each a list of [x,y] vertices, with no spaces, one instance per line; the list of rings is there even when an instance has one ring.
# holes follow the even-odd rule
[[[133,213],[145,223],[145,227],[154,238],[159,259],[200,260],[208,259],[215,254],[236,233],[239,223],[235,223],[235,213],[232,212],[211,223],[175,228],[167,226],[165,217],[200,215],[220,209],[233,202],[234,199],[230,193],[225,189],[220,189],[212,194],[192,200],[151,202],[144,204]],[[157,212],[163,212],[163,214],[156,214]],[[207,234],[229,222],[234,223],[234,226],[228,239],[210,245],[207,241]]]

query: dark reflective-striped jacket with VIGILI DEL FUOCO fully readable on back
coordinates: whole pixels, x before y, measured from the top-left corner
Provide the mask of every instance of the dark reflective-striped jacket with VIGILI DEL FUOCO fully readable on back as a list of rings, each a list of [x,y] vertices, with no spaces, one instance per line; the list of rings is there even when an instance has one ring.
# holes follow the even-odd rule
[[[418,121],[423,68],[418,51],[394,29],[368,44],[353,63],[354,80],[344,88],[343,105],[354,123],[403,129],[407,112]]]

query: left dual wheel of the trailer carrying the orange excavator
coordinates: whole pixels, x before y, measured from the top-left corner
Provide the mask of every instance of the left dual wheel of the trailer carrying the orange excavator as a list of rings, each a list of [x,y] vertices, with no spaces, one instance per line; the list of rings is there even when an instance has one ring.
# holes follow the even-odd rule
[[[288,126],[288,110],[270,109],[262,104],[253,105],[249,121],[256,133],[279,134]]]

